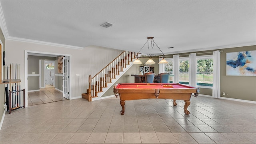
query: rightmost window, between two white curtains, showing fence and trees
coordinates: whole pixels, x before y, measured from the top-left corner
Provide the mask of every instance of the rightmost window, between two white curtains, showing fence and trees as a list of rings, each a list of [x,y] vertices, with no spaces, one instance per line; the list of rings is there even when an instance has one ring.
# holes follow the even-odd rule
[[[213,56],[197,56],[197,86],[212,86],[213,83]]]

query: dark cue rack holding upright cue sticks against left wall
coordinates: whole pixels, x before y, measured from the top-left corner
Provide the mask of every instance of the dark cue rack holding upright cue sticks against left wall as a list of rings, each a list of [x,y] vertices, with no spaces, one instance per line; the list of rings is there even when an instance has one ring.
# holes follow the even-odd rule
[[[10,64],[6,68],[4,80],[0,80],[0,84],[6,84],[6,107],[9,114],[12,110],[18,108],[25,108],[25,89],[20,87],[20,64]],[[21,98],[23,97],[23,106],[21,105]]]

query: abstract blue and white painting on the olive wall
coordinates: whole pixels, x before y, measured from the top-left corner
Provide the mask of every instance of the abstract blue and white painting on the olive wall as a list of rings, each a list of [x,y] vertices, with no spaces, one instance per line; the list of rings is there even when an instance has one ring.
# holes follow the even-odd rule
[[[227,76],[256,76],[256,50],[226,53]]]

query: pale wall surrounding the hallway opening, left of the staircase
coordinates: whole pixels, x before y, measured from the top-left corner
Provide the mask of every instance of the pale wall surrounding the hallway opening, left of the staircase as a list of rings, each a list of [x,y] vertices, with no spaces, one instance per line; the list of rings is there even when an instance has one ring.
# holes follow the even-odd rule
[[[89,86],[89,74],[94,76],[123,52],[122,50],[115,50],[100,46],[88,46],[82,50],[79,50],[44,44],[6,40],[6,65],[10,65],[10,63],[20,64],[21,88],[25,88],[25,50],[71,55],[70,99],[81,97],[81,94],[86,92],[86,89]],[[80,74],[80,76],[76,77],[76,74]]]

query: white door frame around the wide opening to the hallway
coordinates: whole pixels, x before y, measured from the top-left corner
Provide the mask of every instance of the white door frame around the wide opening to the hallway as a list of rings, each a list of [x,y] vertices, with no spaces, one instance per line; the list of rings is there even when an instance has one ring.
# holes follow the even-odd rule
[[[25,103],[26,107],[28,107],[28,53],[36,53],[36,54],[50,54],[50,55],[60,55],[60,56],[69,56],[69,75],[70,79],[68,82],[69,85],[69,99],[72,97],[72,90],[70,88],[72,78],[71,78],[71,55],[70,54],[60,54],[60,53],[52,53],[52,52],[38,52],[38,51],[31,51],[31,50],[25,50]]]

